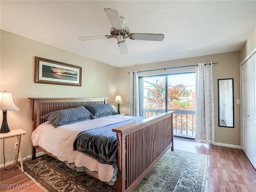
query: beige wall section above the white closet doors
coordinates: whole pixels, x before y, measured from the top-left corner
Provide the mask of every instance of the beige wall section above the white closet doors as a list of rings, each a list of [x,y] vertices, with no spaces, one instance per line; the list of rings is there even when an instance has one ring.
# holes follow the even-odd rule
[[[250,34],[248,40],[240,51],[240,62],[242,62],[246,58],[246,56],[248,56],[252,52],[254,48],[256,48],[256,28]]]

